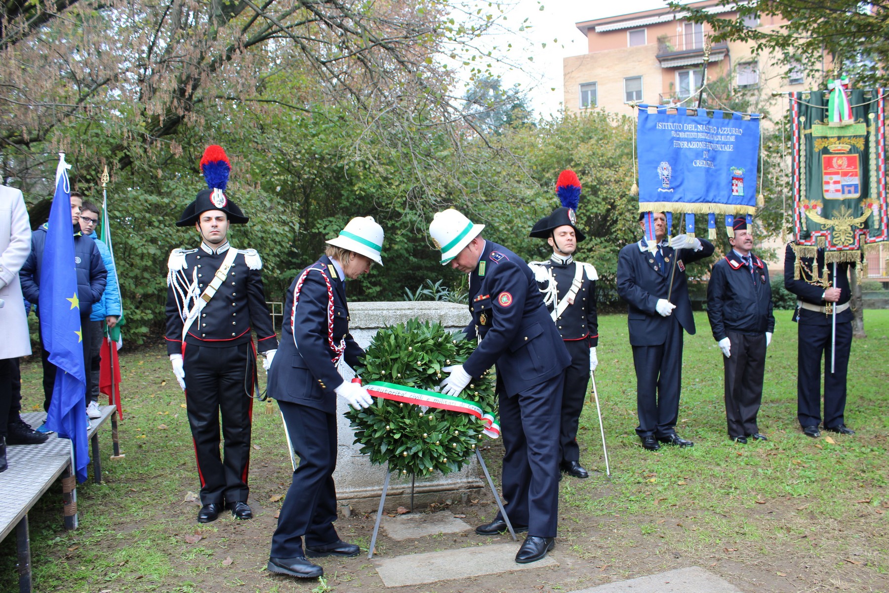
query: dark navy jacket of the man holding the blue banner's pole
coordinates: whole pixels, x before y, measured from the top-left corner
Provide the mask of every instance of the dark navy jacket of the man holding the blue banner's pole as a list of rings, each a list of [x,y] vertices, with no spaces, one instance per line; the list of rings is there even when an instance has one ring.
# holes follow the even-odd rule
[[[666,273],[661,273],[664,270],[659,269],[653,254],[648,252],[645,245],[645,239],[626,245],[621,249],[617,260],[617,292],[628,303],[630,346],[658,346],[667,340],[670,319],[661,317],[654,307],[658,299],[667,298],[674,255],[679,259],[673,276],[673,292],[669,298],[676,305],[671,317],[676,317],[686,332],[695,332],[685,265],[713,254],[713,244],[704,239],[701,239],[701,251],[697,252],[680,249],[674,253],[672,247],[664,246],[661,251],[667,269]]]

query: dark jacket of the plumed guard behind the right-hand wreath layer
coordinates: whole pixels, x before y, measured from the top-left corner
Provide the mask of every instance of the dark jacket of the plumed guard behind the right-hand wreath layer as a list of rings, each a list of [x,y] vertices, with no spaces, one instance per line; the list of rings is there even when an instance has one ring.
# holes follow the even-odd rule
[[[577,266],[584,264],[579,261],[571,261],[564,264],[549,259],[541,262],[543,268],[552,272],[556,281],[556,302],[549,307],[551,312],[559,302],[565,298],[565,294],[571,290],[574,274]],[[588,269],[591,269],[590,266]],[[541,290],[546,284],[538,283]],[[568,305],[561,316],[556,319],[556,329],[562,340],[587,340],[590,348],[596,348],[599,343],[598,317],[596,314],[596,281],[589,278],[587,270],[581,275],[581,288],[574,295],[574,304]]]

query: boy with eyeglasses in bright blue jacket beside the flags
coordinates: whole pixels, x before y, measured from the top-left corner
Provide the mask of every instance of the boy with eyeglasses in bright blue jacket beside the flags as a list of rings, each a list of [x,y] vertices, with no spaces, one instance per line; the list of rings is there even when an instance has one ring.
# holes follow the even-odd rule
[[[102,298],[92,304],[90,314],[90,359],[92,370],[90,372],[90,391],[86,394],[86,413],[90,418],[100,418],[99,409],[99,367],[101,364],[100,351],[102,338],[105,331],[102,324],[112,328],[123,313],[120,301],[120,285],[117,284],[117,271],[111,251],[100,238],[96,228],[99,225],[100,209],[92,202],[84,202],[80,206],[80,230],[85,236],[89,236],[96,242],[96,247],[102,256],[102,263],[108,270],[108,283],[105,284],[105,292]]]

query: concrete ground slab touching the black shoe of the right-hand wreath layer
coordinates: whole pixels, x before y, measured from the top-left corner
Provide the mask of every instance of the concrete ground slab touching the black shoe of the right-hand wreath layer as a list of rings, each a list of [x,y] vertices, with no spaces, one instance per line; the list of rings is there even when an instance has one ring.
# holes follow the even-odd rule
[[[373,565],[387,587],[421,585],[482,574],[558,566],[557,560],[551,553],[537,562],[517,564],[516,553],[520,545],[520,542],[497,543],[490,546],[449,549],[444,552],[426,552],[373,560]]]

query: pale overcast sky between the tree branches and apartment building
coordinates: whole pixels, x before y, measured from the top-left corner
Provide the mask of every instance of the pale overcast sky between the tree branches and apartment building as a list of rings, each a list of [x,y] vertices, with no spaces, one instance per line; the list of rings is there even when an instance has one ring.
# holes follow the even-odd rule
[[[565,96],[562,60],[587,52],[586,37],[575,23],[666,5],[663,0],[620,0],[614,3],[605,0],[517,0],[506,23],[516,31],[515,35],[527,37],[526,51],[533,52],[533,61],[521,60],[525,64],[524,72],[503,72],[504,86],[519,83],[524,88],[533,89],[531,107],[540,116],[555,115]],[[525,18],[531,19],[533,27],[518,33],[517,28]],[[546,47],[541,47],[542,44]]]

